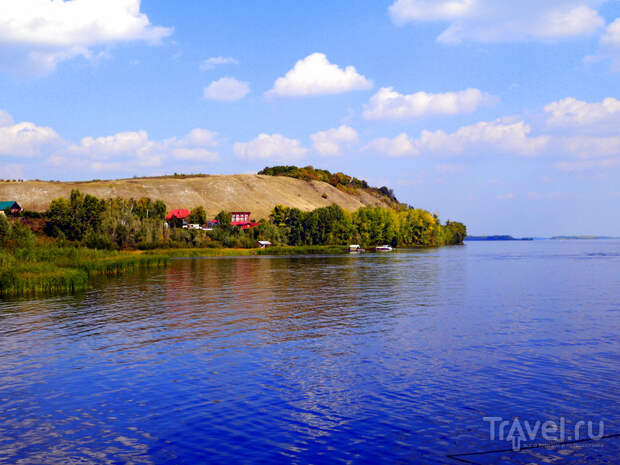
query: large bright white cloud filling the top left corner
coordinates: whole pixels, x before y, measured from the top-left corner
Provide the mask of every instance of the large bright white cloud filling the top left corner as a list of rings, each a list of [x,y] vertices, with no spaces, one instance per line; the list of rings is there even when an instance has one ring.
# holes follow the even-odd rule
[[[159,43],[172,29],[151,25],[140,0],[4,0],[0,15],[0,66],[47,74],[95,47],[121,42]]]

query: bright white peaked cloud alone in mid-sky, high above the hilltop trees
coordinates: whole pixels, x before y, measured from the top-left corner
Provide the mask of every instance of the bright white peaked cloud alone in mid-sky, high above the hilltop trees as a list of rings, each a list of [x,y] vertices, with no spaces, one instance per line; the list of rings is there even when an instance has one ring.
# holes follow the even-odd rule
[[[295,63],[293,69],[276,79],[266,96],[295,97],[340,94],[366,90],[372,81],[359,74],[355,67],[342,69],[327,60],[323,53],[313,53]]]

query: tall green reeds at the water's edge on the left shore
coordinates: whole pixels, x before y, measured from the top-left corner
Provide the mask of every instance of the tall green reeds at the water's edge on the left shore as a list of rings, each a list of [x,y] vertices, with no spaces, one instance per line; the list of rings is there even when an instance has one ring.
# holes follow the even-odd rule
[[[0,251],[0,296],[71,294],[88,288],[89,278],[165,266],[168,257],[74,247]]]

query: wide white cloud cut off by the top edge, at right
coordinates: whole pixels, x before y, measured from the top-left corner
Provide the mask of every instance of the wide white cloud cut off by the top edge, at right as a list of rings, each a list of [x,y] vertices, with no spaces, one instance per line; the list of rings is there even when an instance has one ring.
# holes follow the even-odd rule
[[[595,34],[605,21],[604,0],[396,0],[389,8],[397,25],[441,21],[443,43],[552,41]]]

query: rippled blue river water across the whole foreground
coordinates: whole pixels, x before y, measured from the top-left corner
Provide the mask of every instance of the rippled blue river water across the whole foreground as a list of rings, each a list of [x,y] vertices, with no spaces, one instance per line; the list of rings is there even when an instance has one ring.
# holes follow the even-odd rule
[[[515,418],[604,437],[513,451]],[[620,241],[184,259],[0,301],[1,464],[618,463],[617,433]]]

